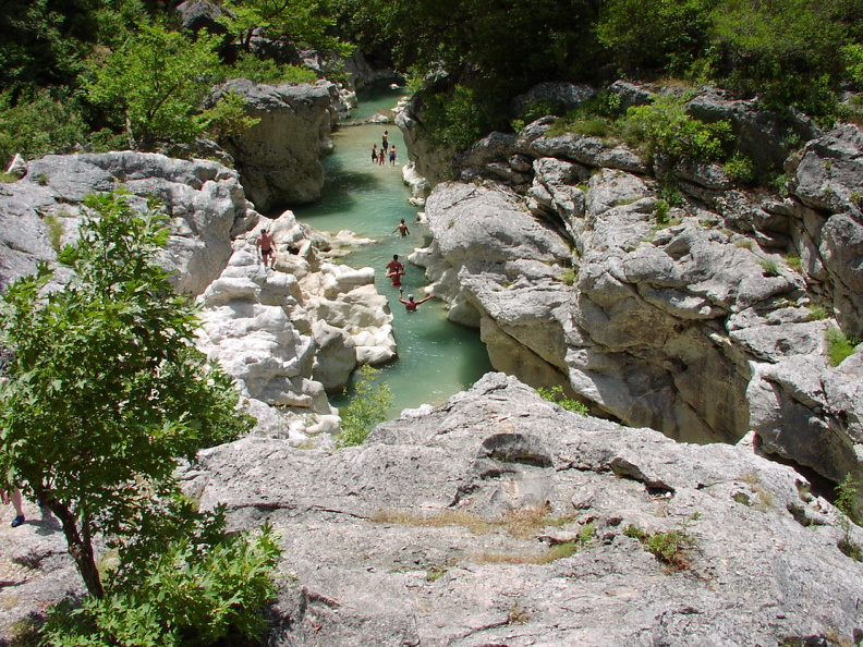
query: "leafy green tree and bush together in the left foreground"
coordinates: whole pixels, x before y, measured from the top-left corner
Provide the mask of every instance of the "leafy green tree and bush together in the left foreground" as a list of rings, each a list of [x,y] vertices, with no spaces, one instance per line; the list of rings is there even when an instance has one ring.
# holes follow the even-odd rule
[[[272,529],[228,534],[223,510],[199,512],[174,476],[252,420],[194,349],[195,309],[157,263],[167,218],[122,194],[85,205],[93,217],[59,254],[65,288],[42,265],[0,302],[0,473],[60,521],[89,593],[37,633],[94,647],[256,638],[275,596]]]

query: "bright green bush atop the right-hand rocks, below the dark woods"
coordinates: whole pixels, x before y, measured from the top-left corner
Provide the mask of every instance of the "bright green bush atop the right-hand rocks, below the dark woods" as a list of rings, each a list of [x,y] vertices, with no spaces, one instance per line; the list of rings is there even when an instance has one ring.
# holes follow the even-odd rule
[[[648,106],[630,108],[622,124],[624,139],[641,146],[648,156],[721,159],[731,141],[731,125],[698,121],[686,113],[685,103],[684,98],[668,95]]]

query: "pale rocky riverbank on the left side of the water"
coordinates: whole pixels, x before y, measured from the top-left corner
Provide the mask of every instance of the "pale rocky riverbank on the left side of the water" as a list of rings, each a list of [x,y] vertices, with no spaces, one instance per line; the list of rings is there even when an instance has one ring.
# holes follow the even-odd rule
[[[264,218],[245,199],[238,173],[218,162],[132,151],[48,156],[2,185],[3,280],[53,261],[77,235],[84,196],[120,186],[134,208],[155,198],[170,217],[163,263],[175,289],[198,297],[199,346],[235,378],[258,418],[255,434],[330,443],[339,418],[326,392],[340,391],[357,364],[396,355],[392,315],[374,270],[331,258],[368,241],[326,236],[291,211]],[[264,227],[276,241],[275,270],[255,254]]]

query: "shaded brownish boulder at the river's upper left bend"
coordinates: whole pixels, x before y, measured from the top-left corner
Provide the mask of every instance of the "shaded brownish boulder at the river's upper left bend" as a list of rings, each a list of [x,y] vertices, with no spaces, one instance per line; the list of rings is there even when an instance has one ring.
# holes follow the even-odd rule
[[[236,161],[248,199],[262,211],[320,198],[324,167],[321,137],[329,134],[332,93],[330,83],[317,85],[255,84],[234,78],[221,85],[211,99],[236,93],[246,112],[260,121],[224,142]]]

